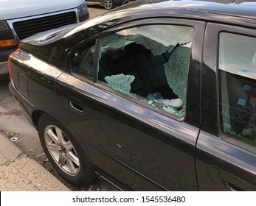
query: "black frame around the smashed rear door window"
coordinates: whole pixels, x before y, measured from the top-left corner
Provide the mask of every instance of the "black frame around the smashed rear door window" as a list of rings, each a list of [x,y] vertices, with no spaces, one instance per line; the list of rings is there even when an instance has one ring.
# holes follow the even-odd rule
[[[109,88],[107,85],[103,85],[100,84],[99,82],[97,82],[97,64],[96,64],[96,60],[97,60],[97,53],[98,53],[98,46],[99,46],[99,40],[100,38],[105,37],[106,35],[110,35],[111,33],[114,32],[119,32],[120,30],[124,30],[124,29],[129,29],[135,26],[146,26],[146,25],[156,25],[156,24],[166,24],[166,25],[177,25],[177,26],[190,26],[193,27],[194,29],[194,34],[193,34],[193,40],[192,40],[192,46],[191,46],[191,50],[190,50],[190,65],[189,65],[189,70],[188,70],[188,79],[187,79],[187,93],[189,93],[190,91],[190,87],[188,86],[189,82],[193,82],[190,80],[190,73],[191,73],[191,68],[194,67],[196,68],[196,74],[194,75],[194,77],[198,79],[198,85],[196,86],[196,93],[197,96],[199,96],[199,90],[200,90],[200,72],[201,72],[201,52],[196,52],[197,49],[201,49],[202,50],[202,45],[203,45],[203,40],[200,37],[201,34],[204,34],[204,26],[205,26],[205,22],[204,21],[194,21],[194,20],[190,20],[190,19],[181,19],[181,18],[172,18],[172,17],[165,17],[165,18],[143,18],[143,19],[139,19],[136,20],[134,19],[133,21],[129,21],[129,22],[125,22],[123,24],[119,24],[117,26],[112,26],[108,29],[106,29],[103,32],[99,32],[98,34],[94,35],[94,38],[90,38],[91,40],[86,40],[86,42],[80,43],[79,46],[75,46],[75,49],[81,48],[81,47],[86,47],[89,46],[89,44],[91,42],[95,42],[95,56],[94,56],[94,80],[91,81],[91,79],[86,78],[86,77],[82,77],[82,75],[78,75],[78,74],[73,74],[73,76],[77,77],[78,79],[84,81],[84,82],[88,82],[91,85],[94,85],[96,88],[99,88],[101,90],[105,90],[106,92],[110,92],[113,93],[114,95],[120,96],[124,99],[128,99],[130,102],[134,102],[135,104],[139,104],[142,107],[146,107],[150,110],[152,110],[153,112],[156,113],[160,113],[161,115],[170,117],[172,119],[175,119],[176,121],[180,121],[180,122],[189,122],[191,125],[199,127],[199,118],[198,118],[198,113],[199,113],[199,107],[196,108],[196,110],[193,111],[193,116],[197,116],[196,117],[196,121],[194,121],[194,118],[192,116],[189,116],[186,110],[186,116],[183,118],[179,118],[178,116],[175,116],[171,113],[167,113],[164,110],[156,110],[156,108],[152,107],[151,105],[148,105],[144,102],[142,102],[139,99],[135,99],[131,96],[127,96],[123,93],[118,92],[117,90],[114,90],[112,88]],[[198,42],[198,43],[196,43]],[[193,46],[193,45],[196,46]],[[71,50],[69,52],[68,55],[68,65],[70,67],[70,60],[71,60],[71,56],[72,54],[74,54],[74,50]],[[197,60],[197,61],[196,61]],[[199,64],[198,64],[199,62]],[[194,73],[195,71],[193,71]],[[190,102],[190,98],[187,97],[187,105],[188,102]],[[193,99],[195,100],[195,99]],[[195,100],[194,102],[198,102],[198,100]],[[191,113],[192,114],[192,113]]]

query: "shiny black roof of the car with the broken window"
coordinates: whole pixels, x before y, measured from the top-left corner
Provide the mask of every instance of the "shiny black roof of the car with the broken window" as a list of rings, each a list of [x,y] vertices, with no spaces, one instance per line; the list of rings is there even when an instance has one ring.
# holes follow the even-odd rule
[[[137,0],[117,10],[186,10],[256,19],[256,0]]]

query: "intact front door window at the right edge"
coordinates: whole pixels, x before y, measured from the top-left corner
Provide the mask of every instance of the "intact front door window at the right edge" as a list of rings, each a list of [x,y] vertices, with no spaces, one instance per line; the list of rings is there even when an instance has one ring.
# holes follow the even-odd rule
[[[221,131],[245,146],[256,146],[256,38],[220,33]]]

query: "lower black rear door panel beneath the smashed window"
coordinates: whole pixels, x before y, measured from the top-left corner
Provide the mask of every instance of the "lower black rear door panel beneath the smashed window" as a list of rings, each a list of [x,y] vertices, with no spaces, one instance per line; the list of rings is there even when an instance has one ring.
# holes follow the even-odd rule
[[[63,96],[60,101],[66,103],[63,110],[68,129],[86,146],[95,166],[120,182],[125,180],[125,186],[132,190],[197,189],[192,168],[198,129],[177,124],[85,82],[70,85],[74,80],[63,73],[56,82],[56,92]],[[66,86],[70,90],[63,90]],[[74,110],[70,102],[80,105],[83,112]],[[139,121],[142,119],[145,122]],[[176,169],[169,173],[170,168]],[[176,182],[182,178],[180,174],[184,174],[184,180]],[[187,185],[193,187],[187,188]]]

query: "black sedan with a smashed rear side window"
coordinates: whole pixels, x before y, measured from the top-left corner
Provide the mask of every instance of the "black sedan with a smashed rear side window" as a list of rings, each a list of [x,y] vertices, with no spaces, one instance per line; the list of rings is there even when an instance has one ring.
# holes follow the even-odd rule
[[[23,40],[10,90],[75,185],[255,191],[255,10],[134,1]]]

